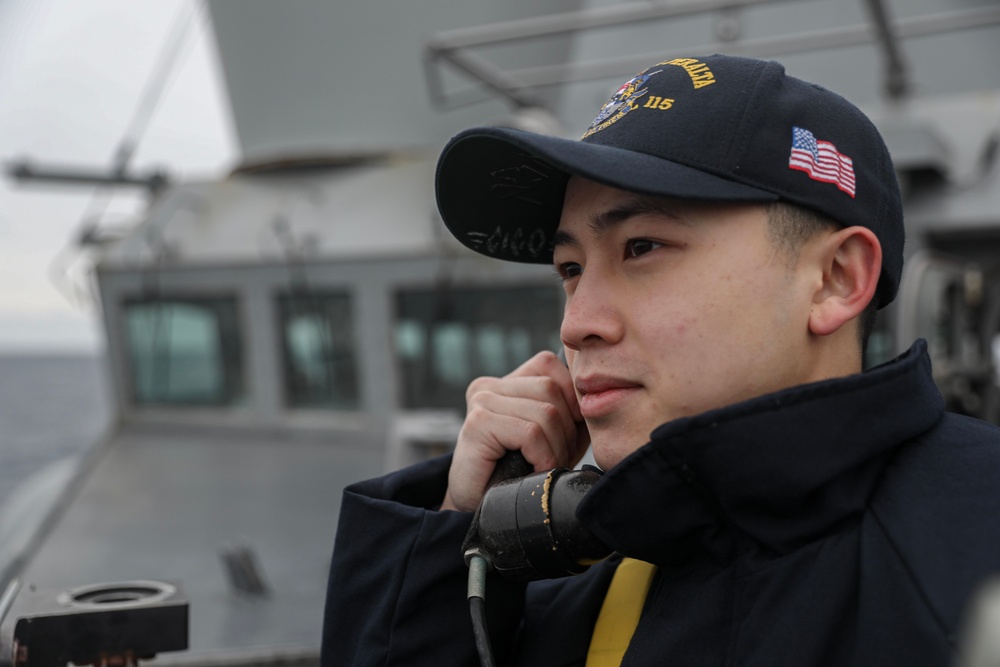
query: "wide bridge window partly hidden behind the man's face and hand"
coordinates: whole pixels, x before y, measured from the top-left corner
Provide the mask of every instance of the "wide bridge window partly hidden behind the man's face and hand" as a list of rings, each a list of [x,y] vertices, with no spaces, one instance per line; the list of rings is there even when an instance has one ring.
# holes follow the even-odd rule
[[[396,299],[396,355],[405,408],[465,409],[480,375],[504,375],[559,349],[556,287],[407,290]]]

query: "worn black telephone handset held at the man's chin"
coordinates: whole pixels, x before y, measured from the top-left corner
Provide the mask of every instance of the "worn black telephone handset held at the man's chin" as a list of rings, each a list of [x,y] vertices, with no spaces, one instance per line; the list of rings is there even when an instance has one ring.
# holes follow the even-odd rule
[[[480,556],[507,579],[532,581],[580,574],[611,555],[576,518],[601,478],[593,466],[534,472],[520,452],[507,452],[490,478],[462,551]]]

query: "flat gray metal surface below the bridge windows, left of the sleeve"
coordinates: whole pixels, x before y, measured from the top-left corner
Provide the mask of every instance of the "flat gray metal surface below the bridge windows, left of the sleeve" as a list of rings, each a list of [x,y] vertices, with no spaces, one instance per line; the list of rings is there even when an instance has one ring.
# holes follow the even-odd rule
[[[352,438],[124,430],[22,581],[179,583],[190,650],[156,664],[311,662],[342,489],[382,466],[382,447]],[[233,545],[253,550],[267,596],[233,589],[220,557]]]

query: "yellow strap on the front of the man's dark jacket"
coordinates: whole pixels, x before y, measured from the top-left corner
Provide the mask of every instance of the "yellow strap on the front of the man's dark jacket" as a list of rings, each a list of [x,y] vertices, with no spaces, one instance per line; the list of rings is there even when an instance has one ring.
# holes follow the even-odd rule
[[[632,634],[639,625],[642,605],[653,581],[656,566],[634,558],[623,558],[604,596],[601,613],[590,638],[586,667],[619,667]]]

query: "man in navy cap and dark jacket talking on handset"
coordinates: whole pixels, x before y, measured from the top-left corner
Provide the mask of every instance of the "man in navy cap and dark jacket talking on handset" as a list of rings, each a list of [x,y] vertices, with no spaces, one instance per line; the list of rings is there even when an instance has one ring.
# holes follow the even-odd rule
[[[777,63],[672,59],[580,141],[460,134],[437,188],[469,247],[555,266],[567,366],[473,382],[453,457],[347,490],[326,665],[475,664],[460,545],[496,461],[588,443],[577,515],[617,554],[491,579],[500,664],[954,662],[1000,568],[1000,430],[944,413],[922,343],[861,373],[903,257],[863,114]]]

